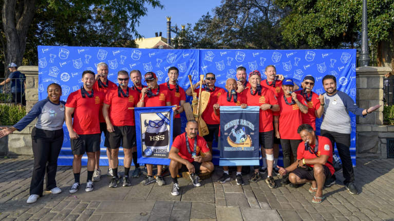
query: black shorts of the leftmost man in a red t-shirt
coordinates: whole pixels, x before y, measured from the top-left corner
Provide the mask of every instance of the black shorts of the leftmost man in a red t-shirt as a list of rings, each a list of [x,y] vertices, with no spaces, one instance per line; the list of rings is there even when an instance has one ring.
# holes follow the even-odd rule
[[[70,139],[73,155],[83,155],[86,152],[100,151],[100,134],[78,134],[78,139]]]

